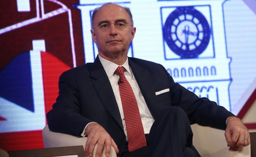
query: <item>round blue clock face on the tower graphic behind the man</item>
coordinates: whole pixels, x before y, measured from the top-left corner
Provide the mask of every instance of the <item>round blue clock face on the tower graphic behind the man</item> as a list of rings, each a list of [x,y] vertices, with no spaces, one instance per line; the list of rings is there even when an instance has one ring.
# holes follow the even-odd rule
[[[177,7],[166,19],[163,34],[167,45],[180,58],[197,58],[209,44],[211,29],[194,7]]]

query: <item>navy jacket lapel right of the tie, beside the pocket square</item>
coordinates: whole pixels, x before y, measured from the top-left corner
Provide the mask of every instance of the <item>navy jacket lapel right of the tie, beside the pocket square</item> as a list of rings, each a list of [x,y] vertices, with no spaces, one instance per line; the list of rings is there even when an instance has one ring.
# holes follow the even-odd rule
[[[160,111],[159,108],[157,107],[155,90],[152,88],[154,82],[150,79],[150,76],[145,68],[140,67],[136,63],[132,62],[130,59],[129,65],[140,87],[140,91],[146,101],[149,111],[151,112],[153,118],[156,119]]]

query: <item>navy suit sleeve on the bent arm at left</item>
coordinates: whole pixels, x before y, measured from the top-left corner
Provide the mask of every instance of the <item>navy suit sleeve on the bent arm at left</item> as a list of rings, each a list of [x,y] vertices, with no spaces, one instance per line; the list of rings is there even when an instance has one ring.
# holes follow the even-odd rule
[[[71,73],[64,72],[59,79],[59,96],[52,110],[46,114],[49,129],[80,136],[92,120],[80,114],[79,91]]]

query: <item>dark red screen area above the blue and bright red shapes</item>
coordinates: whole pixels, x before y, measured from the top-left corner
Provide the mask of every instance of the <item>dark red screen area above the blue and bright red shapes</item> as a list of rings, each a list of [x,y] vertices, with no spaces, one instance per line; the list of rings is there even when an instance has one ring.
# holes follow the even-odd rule
[[[44,39],[47,52],[73,67],[68,13],[65,12],[1,34],[0,70],[16,55],[33,50],[32,40],[37,39]]]

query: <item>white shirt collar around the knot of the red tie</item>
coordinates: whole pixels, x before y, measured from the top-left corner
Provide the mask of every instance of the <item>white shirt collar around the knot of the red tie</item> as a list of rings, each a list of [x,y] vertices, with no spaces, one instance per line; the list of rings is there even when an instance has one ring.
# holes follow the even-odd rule
[[[116,63],[113,63],[112,61],[108,61],[108,60],[102,58],[100,55],[98,55],[98,56],[99,56],[100,62],[102,64],[104,70],[106,71],[106,73],[108,75],[108,78],[110,79],[113,76],[113,74],[115,73],[116,68],[119,65],[117,65]],[[124,62],[124,64],[121,65],[120,67],[124,67],[125,70],[129,73],[129,75],[132,76],[132,71],[131,71],[129,63],[128,63],[128,57],[126,58],[126,61]]]

